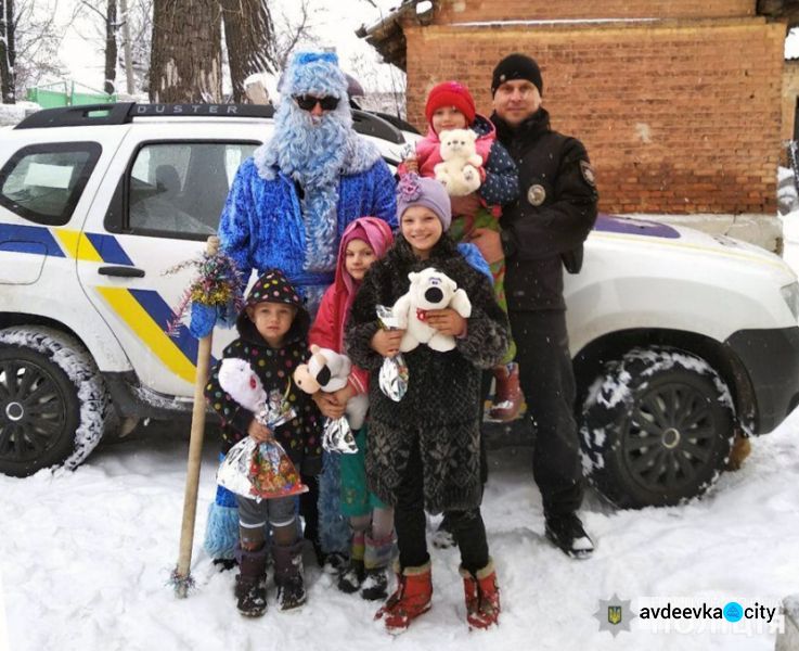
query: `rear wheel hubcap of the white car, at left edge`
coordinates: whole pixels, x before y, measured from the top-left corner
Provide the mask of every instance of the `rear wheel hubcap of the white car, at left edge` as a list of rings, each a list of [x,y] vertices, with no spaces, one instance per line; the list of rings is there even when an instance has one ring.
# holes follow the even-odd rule
[[[35,460],[65,425],[65,399],[47,370],[27,361],[0,362],[0,457]]]

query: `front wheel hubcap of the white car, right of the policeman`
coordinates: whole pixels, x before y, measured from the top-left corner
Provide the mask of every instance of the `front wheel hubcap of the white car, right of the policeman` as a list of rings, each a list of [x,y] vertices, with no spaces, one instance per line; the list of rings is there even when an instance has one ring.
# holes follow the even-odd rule
[[[632,477],[655,492],[693,484],[711,460],[716,423],[707,396],[688,384],[653,387],[641,396],[623,439]]]

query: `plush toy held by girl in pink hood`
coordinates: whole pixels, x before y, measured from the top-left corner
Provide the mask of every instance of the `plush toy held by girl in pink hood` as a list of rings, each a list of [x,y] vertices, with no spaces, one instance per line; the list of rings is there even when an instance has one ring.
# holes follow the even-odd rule
[[[294,370],[294,383],[307,394],[318,391],[333,393],[347,386],[352,362],[349,357],[311,345],[311,358]],[[353,430],[363,425],[369,409],[369,397],[363,394],[352,396],[347,403],[347,420]]]

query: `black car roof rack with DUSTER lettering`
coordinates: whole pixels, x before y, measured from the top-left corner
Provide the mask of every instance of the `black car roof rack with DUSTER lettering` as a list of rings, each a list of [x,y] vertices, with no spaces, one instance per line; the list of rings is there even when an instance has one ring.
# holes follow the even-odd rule
[[[51,127],[87,127],[124,125],[134,117],[204,116],[204,117],[273,117],[274,107],[266,104],[85,104],[37,111],[23,119],[15,129],[46,129]],[[405,141],[400,130],[385,119],[364,111],[352,111],[352,127],[358,133],[374,136],[401,144]]]

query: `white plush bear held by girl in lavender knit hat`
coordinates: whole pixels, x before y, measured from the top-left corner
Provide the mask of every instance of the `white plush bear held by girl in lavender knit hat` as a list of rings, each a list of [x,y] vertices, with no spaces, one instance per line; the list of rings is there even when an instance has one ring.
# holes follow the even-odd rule
[[[408,275],[411,286],[394,304],[394,315],[405,329],[400,342],[400,350],[413,350],[420,344],[427,344],[434,350],[446,353],[455,347],[455,337],[441,334],[427,324],[427,311],[451,307],[464,319],[472,316],[472,302],[466,292],[446,273],[428,267],[418,273]]]

